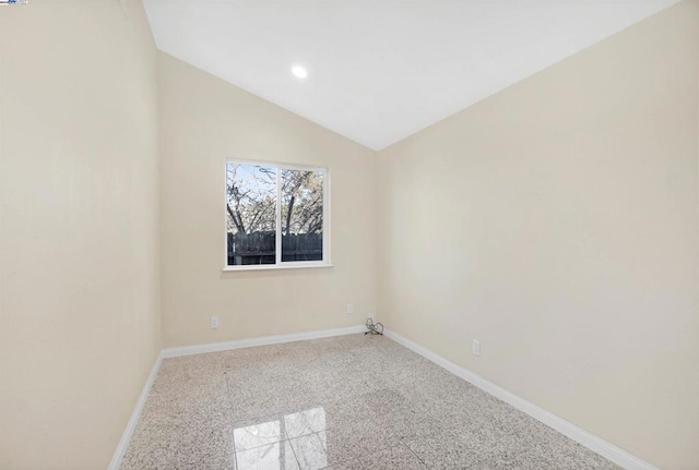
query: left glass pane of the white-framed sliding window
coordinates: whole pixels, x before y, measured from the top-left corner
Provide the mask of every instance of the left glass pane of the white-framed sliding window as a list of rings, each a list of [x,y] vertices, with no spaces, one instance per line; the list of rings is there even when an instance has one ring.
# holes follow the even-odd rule
[[[276,262],[276,168],[226,164],[228,265]]]

